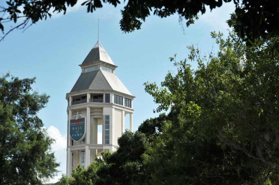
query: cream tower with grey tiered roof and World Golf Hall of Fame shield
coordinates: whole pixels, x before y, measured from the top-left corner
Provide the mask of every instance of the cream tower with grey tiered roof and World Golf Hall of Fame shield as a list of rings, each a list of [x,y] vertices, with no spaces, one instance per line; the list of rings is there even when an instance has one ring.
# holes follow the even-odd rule
[[[78,164],[86,168],[95,155],[118,148],[117,138],[125,131],[125,115],[130,114],[133,130],[133,96],[115,75],[117,66],[98,40],[84,59],[81,75],[66,94],[67,176]],[[98,144],[98,126],[102,144]],[[99,128],[100,129],[100,128]]]

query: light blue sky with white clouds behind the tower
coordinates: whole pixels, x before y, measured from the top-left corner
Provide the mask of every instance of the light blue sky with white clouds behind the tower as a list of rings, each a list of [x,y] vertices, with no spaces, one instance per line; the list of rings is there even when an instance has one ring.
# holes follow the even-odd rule
[[[81,1],[83,2],[83,1]],[[1,1],[0,5],[4,5]],[[66,172],[67,100],[66,93],[75,84],[82,63],[97,41],[98,19],[100,19],[101,44],[115,65],[116,75],[136,96],[134,99],[134,130],[147,118],[158,116],[153,113],[157,106],[153,98],[144,92],[146,81],[160,84],[168,70],[174,70],[169,61],[177,54],[177,60],[187,58],[187,46],[198,45],[202,53],[218,50],[211,31],[227,34],[225,23],[234,10],[232,2],[210,12],[209,8],[189,28],[178,22],[178,15],[161,19],[147,17],[141,30],[125,34],[120,30],[120,10],[123,4],[114,8],[105,4],[93,13],[87,13],[85,6],[67,10],[65,15],[55,14],[53,18],[39,21],[24,33],[15,30],[0,43],[0,72],[10,72],[19,78],[36,77],[33,89],[50,95],[47,107],[39,113],[50,135],[55,135],[59,170]],[[6,26],[5,31],[8,30]],[[196,63],[189,63],[196,67]],[[55,121],[54,121],[55,120]],[[127,124],[128,126],[128,124]],[[59,173],[59,175],[61,175]],[[59,176],[58,176],[59,177]],[[57,177],[57,178],[58,178]],[[56,178],[56,179],[57,179]],[[56,182],[53,179],[53,182]]]

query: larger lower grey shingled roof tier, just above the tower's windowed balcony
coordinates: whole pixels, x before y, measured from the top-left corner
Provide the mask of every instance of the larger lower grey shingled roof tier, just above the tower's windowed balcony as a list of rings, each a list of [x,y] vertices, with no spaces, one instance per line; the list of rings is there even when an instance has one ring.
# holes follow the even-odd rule
[[[133,96],[115,74],[100,69],[81,73],[71,92],[86,89],[115,90]]]

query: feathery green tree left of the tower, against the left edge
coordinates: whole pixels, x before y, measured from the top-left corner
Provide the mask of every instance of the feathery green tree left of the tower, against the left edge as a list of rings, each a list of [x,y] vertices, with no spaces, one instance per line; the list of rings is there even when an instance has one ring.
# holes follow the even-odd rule
[[[32,91],[35,78],[9,76],[0,78],[0,184],[42,184],[59,166],[37,116],[49,96]]]

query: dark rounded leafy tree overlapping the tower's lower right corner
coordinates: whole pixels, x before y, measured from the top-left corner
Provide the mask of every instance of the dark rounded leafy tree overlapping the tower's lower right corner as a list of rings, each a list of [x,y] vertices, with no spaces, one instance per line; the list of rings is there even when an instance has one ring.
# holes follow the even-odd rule
[[[144,184],[147,178],[141,155],[148,147],[146,136],[126,130],[118,138],[118,145],[116,152],[104,156],[107,165],[98,170],[96,184]]]

